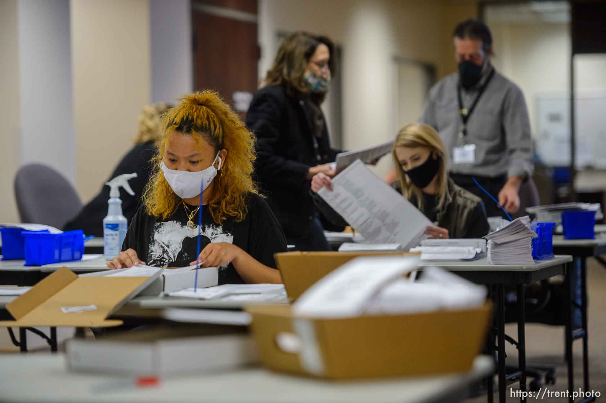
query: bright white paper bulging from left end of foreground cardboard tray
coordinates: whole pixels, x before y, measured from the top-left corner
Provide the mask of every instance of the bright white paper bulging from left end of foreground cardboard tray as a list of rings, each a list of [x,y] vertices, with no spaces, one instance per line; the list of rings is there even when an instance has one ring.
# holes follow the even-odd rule
[[[325,275],[293,304],[296,315],[348,318],[364,312],[379,289],[416,269],[419,256],[360,257]]]

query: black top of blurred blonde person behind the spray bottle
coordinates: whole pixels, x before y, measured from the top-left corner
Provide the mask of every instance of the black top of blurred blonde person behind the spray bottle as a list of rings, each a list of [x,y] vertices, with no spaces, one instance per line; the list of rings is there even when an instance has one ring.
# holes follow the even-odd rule
[[[128,181],[128,185],[133,189],[135,195],[132,196],[124,190],[120,191],[122,215],[126,217],[129,223],[133,219],[137,208],[141,205],[143,189],[147,184],[151,172],[150,159],[153,157],[154,153],[155,147],[151,142],[134,146],[124,157],[122,157],[122,160],[118,163],[118,166],[116,166],[106,181],[109,182],[118,175],[136,172],[137,177]],[[104,183],[95,198],[89,201],[76,217],[65,224],[64,231],[82,229],[84,234],[102,237],[103,218],[107,215],[107,201],[109,198],[110,187]]]

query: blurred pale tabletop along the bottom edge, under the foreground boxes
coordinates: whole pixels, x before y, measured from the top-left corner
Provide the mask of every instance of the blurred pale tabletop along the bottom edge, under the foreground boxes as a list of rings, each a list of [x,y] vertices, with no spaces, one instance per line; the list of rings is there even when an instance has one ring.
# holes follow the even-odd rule
[[[112,390],[109,385],[121,378],[70,373],[62,353],[36,353],[2,357],[0,390],[4,402],[424,403],[436,402],[451,394],[460,393],[466,385],[483,378],[492,370],[490,357],[478,356],[473,369],[464,374],[391,378],[371,382],[330,382],[255,367],[162,379],[158,387],[152,388]],[[92,387],[105,384],[108,385],[107,392],[93,394]]]

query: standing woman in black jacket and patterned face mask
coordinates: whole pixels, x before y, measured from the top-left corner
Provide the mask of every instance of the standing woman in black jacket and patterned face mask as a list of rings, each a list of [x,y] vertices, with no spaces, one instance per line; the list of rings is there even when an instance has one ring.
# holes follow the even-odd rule
[[[336,174],[330,162],[339,151],[330,148],[320,109],[334,72],[333,56],[333,43],[325,36],[290,34],[246,116],[257,136],[256,179],[288,243],[302,251],[330,249],[324,218],[309,190],[315,174]]]

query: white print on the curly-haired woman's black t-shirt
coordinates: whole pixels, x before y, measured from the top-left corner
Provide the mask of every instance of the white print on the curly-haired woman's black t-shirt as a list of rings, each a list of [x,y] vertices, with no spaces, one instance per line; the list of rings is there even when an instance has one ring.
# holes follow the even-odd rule
[[[208,242],[233,243],[233,234],[225,231],[216,223],[202,225],[201,248]],[[164,267],[173,262],[189,264],[196,260],[198,242],[198,224],[188,227],[179,221],[156,223],[151,233],[147,264]],[[227,267],[227,266],[225,266]]]

